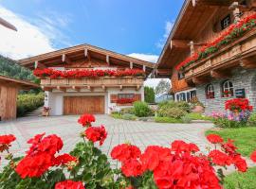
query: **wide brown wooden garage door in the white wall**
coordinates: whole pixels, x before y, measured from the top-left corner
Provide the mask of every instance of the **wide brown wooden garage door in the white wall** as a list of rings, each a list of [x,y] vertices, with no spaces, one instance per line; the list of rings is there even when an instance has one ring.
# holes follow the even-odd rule
[[[104,113],[104,96],[64,96],[64,114]]]

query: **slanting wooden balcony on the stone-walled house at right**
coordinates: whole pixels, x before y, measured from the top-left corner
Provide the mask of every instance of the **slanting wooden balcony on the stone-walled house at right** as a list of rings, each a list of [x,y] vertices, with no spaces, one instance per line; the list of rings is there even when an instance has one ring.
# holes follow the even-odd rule
[[[198,60],[184,70],[185,79],[191,83],[207,82],[209,77],[229,77],[229,68],[256,67],[256,29],[237,41],[223,47],[204,60]],[[197,82],[198,81],[198,82]],[[200,82],[199,82],[200,81]]]

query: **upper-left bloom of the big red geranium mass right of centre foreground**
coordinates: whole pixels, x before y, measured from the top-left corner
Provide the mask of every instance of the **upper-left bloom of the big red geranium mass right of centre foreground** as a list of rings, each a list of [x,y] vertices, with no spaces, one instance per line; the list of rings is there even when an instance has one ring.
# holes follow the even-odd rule
[[[124,162],[129,159],[137,159],[140,155],[141,151],[137,146],[128,144],[115,146],[111,151],[112,159],[119,160],[119,162]]]

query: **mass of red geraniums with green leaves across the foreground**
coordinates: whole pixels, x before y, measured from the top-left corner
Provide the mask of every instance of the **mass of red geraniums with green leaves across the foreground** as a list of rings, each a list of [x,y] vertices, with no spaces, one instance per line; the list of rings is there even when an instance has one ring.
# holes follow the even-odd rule
[[[86,114],[83,117],[94,117]],[[88,121],[90,120],[90,121]],[[0,173],[0,188],[27,189],[119,189],[119,188],[222,188],[223,168],[233,165],[238,171],[247,171],[247,162],[237,152],[233,141],[218,135],[208,135],[210,143],[221,146],[202,154],[198,146],[184,141],[174,141],[171,146],[147,146],[141,151],[137,146],[121,144],[111,151],[113,160],[120,162],[112,169],[108,158],[96,147],[106,139],[103,126],[93,127],[91,120],[80,121],[82,142],[69,153],[59,154],[64,144],[57,135],[35,135],[26,156],[14,158],[10,153],[13,135],[0,136],[2,152],[8,153],[9,164]],[[98,146],[98,145],[97,145]],[[256,152],[251,154],[256,162]]]

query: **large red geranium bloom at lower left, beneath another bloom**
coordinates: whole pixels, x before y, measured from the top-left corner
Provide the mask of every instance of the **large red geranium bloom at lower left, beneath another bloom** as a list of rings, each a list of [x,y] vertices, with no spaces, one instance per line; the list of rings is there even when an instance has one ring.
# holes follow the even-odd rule
[[[22,179],[40,178],[52,165],[52,156],[48,153],[39,153],[26,156],[16,167],[16,172]]]

